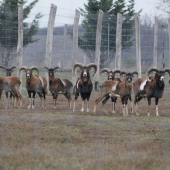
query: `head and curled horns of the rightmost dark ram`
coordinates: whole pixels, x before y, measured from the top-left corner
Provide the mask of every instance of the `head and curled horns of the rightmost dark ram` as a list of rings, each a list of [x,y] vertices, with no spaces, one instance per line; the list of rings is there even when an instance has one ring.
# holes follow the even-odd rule
[[[157,82],[159,82],[159,84],[161,85],[164,82],[164,75],[166,74],[166,72],[169,74],[170,76],[170,69],[164,69],[164,70],[159,70],[157,68],[150,68],[148,69],[148,71],[146,72],[146,78],[149,82],[152,82],[153,79],[149,78],[149,74],[155,71],[155,76],[153,77],[153,79],[155,79]]]

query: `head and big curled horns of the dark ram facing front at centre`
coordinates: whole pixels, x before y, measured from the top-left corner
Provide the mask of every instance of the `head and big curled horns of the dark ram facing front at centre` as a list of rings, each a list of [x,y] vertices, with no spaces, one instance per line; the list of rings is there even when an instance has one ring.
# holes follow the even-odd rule
[[[84,81],[87,81],[90,77],[93,77],[97,71],[97,65],[94,64],[94,63],[90,63],[88,65],[84,65],[82,63],[76,63],[73,67],[73,72],[75,74],[75,76],[77,77],[76,75],[76,68],[79,67],[81,69],[81,74],[80,74],[80,77],[84,80]],[[91,68],[94,68],[94,73],[92,76],[90,76],[90,69]]]

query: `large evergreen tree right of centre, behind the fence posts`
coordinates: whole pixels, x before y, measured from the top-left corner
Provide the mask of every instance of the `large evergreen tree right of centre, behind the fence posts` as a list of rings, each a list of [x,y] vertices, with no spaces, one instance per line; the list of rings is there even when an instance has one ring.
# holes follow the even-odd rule
[[[108,27],[109,27],[109,51],[110,59],[114,57],[116,51],[116,22],[117,13],[123,15],[122,22],[122,48],[132,46],[132,34],[134,32],[133,17],[135,14],[140,14],[134,10],[134,0],[129,0],[126,4],[125,0],[88,0],[84,4],[85,10],[80,8],[81,15],[84,17],[82,26],[85,30],[84,34],[79,35],[79,47],[86,52],[86,55],[94,62],[95,58],[95,44],[96,44],[96,26],[98,11],[101,9],[104,12],[102,25],[102,42],[101,42],[101,61],[104,67],[104,61],[107,60],[108,54]]]

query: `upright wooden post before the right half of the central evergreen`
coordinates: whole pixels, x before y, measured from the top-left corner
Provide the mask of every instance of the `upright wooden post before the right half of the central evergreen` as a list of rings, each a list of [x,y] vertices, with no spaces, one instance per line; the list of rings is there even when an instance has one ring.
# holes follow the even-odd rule
[[[115,69],[121,69],[122,14],[117,14]]]

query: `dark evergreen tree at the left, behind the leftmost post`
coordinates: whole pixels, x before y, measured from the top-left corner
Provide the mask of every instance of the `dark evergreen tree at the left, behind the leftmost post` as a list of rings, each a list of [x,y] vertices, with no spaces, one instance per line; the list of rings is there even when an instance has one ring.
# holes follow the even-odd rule
[[[29,17],[33,7],[39,0],[34,0],[23,8],[23,20]],[[18,43],[18,3],[25,5],[27,0],[3,0],[0,2],[0,58],[1,65],[8,66],[9,61],[16,58],[12,53],[16,52]],[[31,24],[23,22],[24,37],[23,45],[38,41],[33,39],[39,30],[39,19],[41,13],[35,15]]]

